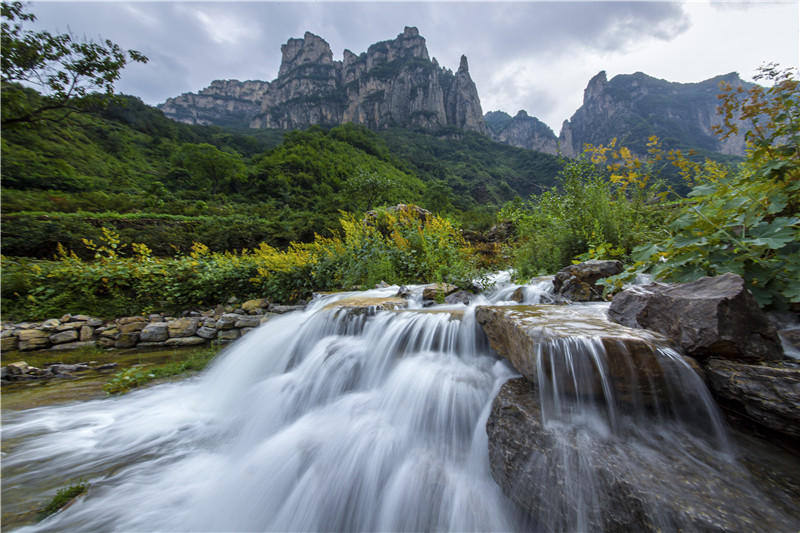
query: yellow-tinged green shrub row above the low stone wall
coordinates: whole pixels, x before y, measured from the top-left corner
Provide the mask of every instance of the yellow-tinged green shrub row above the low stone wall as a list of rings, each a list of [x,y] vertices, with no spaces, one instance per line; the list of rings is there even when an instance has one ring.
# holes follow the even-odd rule
[[[99,242],[84,243],[92,259],[63,248],[55,261],[3,257],[4,318],[174,312],[231,296],[291,302],[381,280],[467,286],[476,275],[458,227],[444,218],[420,216],[413,207],[379,209],[366,220],[344,215],[340,225],[331,237],[317,235],[286,250],[262,243],[211,252],[195,243],[190,253],[165,258],[142,244],[123,246],[119,235],[102,228]]]

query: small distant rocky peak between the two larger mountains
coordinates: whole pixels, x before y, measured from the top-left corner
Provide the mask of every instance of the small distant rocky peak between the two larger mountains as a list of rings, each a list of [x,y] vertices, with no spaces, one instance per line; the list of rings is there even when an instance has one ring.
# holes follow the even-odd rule
[[[503,144],[558,155],[558,137],[550,127],[525,111],[513,118],[503,111],[490,111],[484,116],[489,136]]]

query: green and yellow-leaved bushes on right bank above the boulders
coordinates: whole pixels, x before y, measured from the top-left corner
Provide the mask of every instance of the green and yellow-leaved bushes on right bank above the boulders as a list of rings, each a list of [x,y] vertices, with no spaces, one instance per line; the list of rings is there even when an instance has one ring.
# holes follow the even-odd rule
[[[626,148],[589,147],[567,163],[560,188],[530,203],[506,205],[501,218],[518,226],[518,275],[553,272],[572,258],[633,262],[608,278],[607,293],[639,273],[691,281],[741,275],[758,303],[800,303],[800,90],[793,70],[763,67],[768,89],[723,85],[717,133],[749,121],[750,149],[739,166],[690,161],[657,139],[640,161]],[[670,161],[690,187],[688,198],[654,183]]]

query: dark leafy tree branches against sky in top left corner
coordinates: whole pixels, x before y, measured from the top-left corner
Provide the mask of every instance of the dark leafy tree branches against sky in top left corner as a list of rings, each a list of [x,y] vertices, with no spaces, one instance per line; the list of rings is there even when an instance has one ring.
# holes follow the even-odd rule
[[[2,3],[2,126],[60,122],[72,113],[102,108],[129,61],[146,63],[136,50],[109,40],[78,41],[23,27],[36,16],[21,2]],[[31,90],[34,88],[34,90]]]

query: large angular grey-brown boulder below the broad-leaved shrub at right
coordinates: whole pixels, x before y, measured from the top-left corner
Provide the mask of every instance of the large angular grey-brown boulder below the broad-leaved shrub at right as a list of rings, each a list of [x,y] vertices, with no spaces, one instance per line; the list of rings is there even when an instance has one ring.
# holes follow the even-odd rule
[[[614,296],[608,316],[625,326],[666,335],[701,360],[783,358],[775,327],[736,274],[635,286]]]

